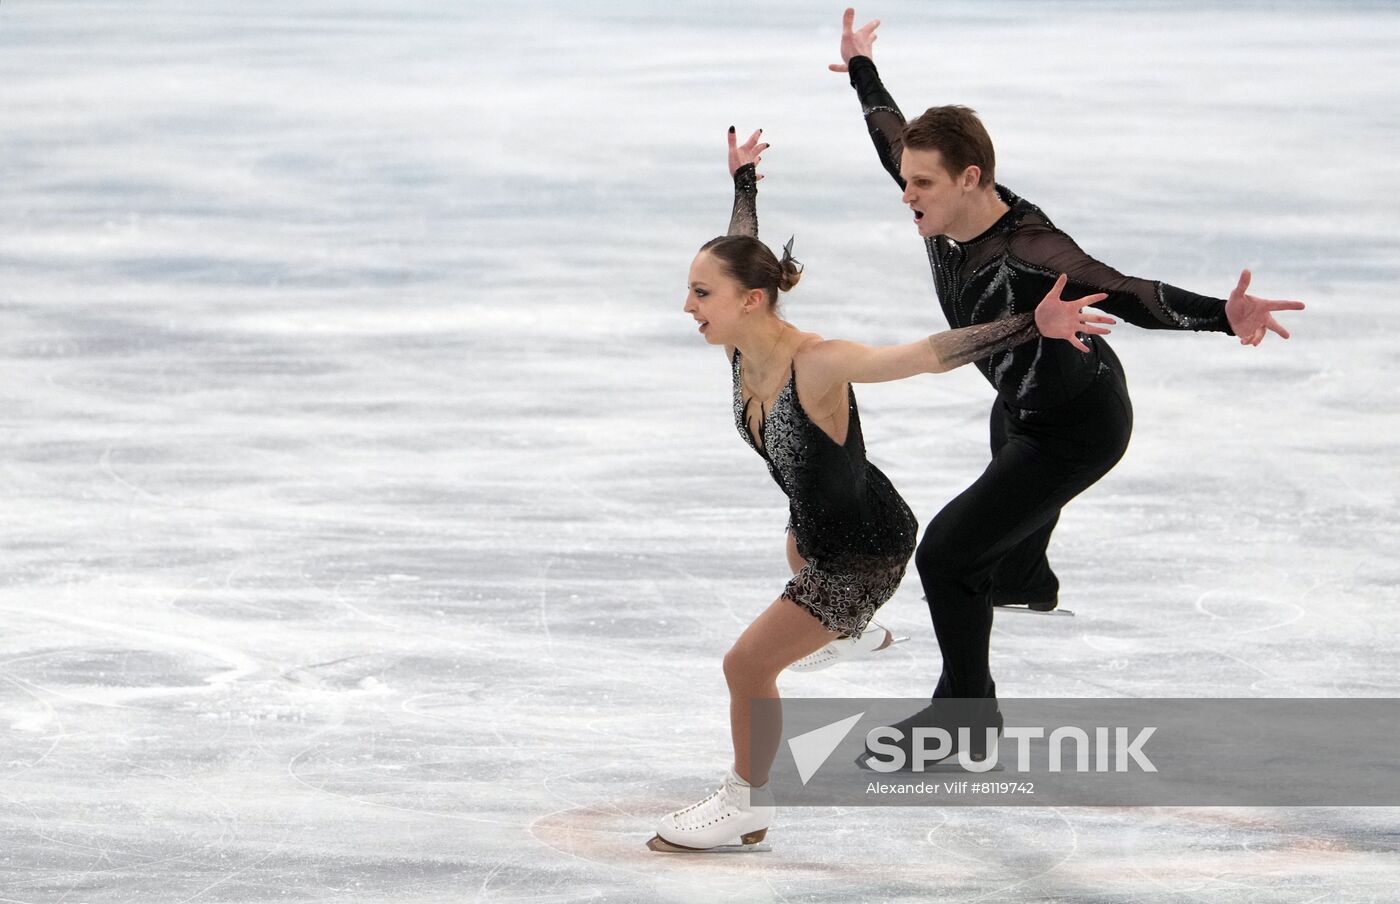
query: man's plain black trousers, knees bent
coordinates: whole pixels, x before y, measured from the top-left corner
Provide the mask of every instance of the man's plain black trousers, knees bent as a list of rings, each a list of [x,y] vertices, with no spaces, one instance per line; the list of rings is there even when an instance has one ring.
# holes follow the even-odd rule
[[[995,697],[988,666],[990,592],[1035,596],[1058,581],[1046,544],[1060,509],[1106,474],[1133,432],[1133,404],[1113,353],[1074,400],[1042,411],[995,402],[991,463],[928,523],[914,554],[944,656],[934,697]]]

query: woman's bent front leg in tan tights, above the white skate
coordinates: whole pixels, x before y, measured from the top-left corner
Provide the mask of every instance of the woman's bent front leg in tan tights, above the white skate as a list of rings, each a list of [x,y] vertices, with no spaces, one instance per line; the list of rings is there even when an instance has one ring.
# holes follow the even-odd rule
[[[729,684],[729,730],[734,735],[734,771],[750,785],[769,781],[769,768],[783,736],[778,712],[763,719],[755,733],[749,712],[753,700],[777,700],[777,677],[802,656],[839,637],[806,609],[780,596],[753,620],[724,656]]]

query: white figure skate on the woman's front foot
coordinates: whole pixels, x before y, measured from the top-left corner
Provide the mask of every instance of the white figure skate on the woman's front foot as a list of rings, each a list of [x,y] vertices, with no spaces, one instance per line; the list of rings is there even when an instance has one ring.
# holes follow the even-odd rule
[[[759,844],[770,821],[773,792],[767,785],[750,786],[731,768],[708,798],[664,816],[647,847],[672,854],[770,851]]]

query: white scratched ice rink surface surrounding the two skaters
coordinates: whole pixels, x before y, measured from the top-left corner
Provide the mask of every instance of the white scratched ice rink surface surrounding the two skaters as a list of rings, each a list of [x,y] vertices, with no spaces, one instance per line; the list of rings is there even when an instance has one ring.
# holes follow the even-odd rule
[[[1095,256],[1294,339],[1120,326],[1123,463],[1061,519],[1077,619],[1008,697],[1394,697],[1400,7],[896,3],[906,113]],[[728,764],[720,659],[785,509],[680,312],[764,127],[787,315],[944,326],[834,62],[840,6],[0,6],[0,901],[1394,901],[1394,809],[790,809],[643,841]],[[1390,313],[1387,313],[1390,311]],[[921,521],[974,372],[858,389]],[[913,640],[784,679],[930,691]],[[1306,777],[1302,777],[1303,779]]]

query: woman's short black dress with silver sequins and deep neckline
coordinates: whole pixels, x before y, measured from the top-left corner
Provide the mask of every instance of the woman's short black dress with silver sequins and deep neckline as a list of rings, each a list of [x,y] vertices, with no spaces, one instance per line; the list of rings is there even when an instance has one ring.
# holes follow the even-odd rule
[[[860,634],[904,577],[918,522],[889,479],[865,460],[855,392],[847,388],[850,424],[839,444],[812,423],[797,397],[797,372],[763,411],[759,437],[749,430],[741,354],[734,351],[734,420],[739,435],[769,466],[788,497],[788,529],[806,565],[783,595],[822,624]]]

